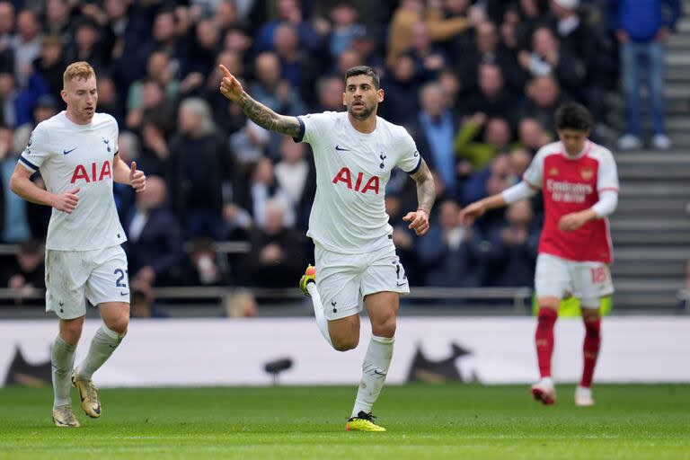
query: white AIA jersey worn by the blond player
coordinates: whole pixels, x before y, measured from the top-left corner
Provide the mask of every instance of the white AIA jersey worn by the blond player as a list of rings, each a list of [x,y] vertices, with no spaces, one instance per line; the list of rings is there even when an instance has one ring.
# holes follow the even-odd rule
[[[118,153],[118,123],[106,113],[77,125],[66,112],[39,123],[19,162],[39,171],[49,192],[80,189],[71,214],[53,208],[46,247],[91,251],[127,241],[112,196],[112,164]]]

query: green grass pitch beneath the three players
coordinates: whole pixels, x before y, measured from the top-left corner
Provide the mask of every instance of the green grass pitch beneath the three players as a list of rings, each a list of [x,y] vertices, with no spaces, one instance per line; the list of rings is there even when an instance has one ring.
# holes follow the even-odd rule
[[[527,386],[384,389],[385,433],[348,433],[353,387],[105,389],[79,429],[51,426],[49,389],[0,389],[0,458],[690,458],[690,386],[598,385],[578,408],[572,386],[544,407]]]

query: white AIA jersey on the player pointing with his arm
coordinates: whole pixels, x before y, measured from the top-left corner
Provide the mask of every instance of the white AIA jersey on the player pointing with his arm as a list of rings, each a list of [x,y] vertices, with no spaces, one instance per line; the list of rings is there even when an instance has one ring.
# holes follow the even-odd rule
[[[352,127],[348,113],[297,117],[314,150],[316,196],[307,236],[341,253],[376,251],[390,244],[385,186],[394,166],[416,173],[421,157],[405,128],[376,118],[372,133]]]

